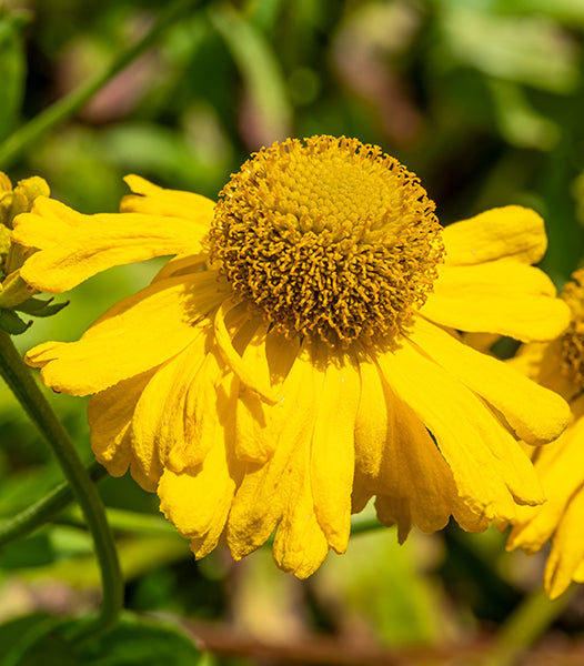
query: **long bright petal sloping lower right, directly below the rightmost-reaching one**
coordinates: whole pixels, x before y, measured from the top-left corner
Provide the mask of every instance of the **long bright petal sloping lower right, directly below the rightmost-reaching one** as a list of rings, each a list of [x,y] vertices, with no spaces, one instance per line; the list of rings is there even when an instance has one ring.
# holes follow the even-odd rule
[[[380,354],[383,376],[434,436],[473,513],[506,519],[542,492],[527,456],[482,401],[407,340]]]

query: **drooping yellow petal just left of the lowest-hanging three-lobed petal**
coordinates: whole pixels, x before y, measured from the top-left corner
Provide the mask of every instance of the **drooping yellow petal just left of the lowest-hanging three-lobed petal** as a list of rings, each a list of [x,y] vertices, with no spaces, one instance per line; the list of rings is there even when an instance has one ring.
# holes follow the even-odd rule
[[[231,406],[225,410],[229,421],[218,430],[200,471],[175,474],[167,468],[158,487],[161,511],[183,536],[194,539],[197,558],[217,546],[244,471],[235,461],[232,446],[239,381],[231,375],[223,390]]]

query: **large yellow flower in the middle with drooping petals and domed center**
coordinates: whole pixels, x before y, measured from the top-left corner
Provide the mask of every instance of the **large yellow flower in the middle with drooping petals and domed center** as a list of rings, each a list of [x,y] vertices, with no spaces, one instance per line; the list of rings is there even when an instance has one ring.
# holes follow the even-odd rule
[[[550,340],[568,323],[531,263],[546,239],[507,206],[442,229],[417,178],[354,139],[275,143],[215,204],[138,176],[120,214],[39,200],[22,274],[64,291],[114,264],[177,255],[73,343],[28,354],[48,386],[93,394],[92,447],[128,467],[191,539],[235,558],[278,528],[278,565],[312,574],[380,519],[465,529],[511,519],[541,487],[521,437],[565,427],[556,394],[457,331]],[[59,242],[44,230],[60,225]]]

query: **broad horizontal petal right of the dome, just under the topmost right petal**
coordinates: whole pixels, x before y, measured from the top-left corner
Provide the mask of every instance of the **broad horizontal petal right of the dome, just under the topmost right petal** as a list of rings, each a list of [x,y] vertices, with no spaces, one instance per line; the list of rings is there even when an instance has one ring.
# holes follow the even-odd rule
[[[420,312],[452,329],[545,341],[570,323],[570,309],[554,295],[542,271],[512,261],[441,266]]]

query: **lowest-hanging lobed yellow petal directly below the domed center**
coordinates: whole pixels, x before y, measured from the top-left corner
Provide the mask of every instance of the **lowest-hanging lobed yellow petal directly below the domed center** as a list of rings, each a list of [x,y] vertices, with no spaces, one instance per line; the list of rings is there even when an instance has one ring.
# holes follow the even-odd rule
[[[325,382],[323,374],[315,370],[311,350],[301,349],[281,387],[283,397],[276,405],[266,406],[278,447],[263,465],[249,464],[228,527],[228,543],[233,556],[239,558],[261,545],[278,525],[274,559],[280,568],[301,578],[321,565],[330,547],[329,538],[338,547],[345,545],[342,534],[345,509],[341,508],[339,521],[338,509],[336,513],[330,509],[326,498],[320,507],[321,515],[329,521],[323,529],[315,508],[313,433]],[[319,462],[324,453],[316,454]],[[319,470],[318,474],[323,475],[325,471]],[[326,480],[329,485],[333,477],[331,474]],[[350,492],[349,487],[348,498]],[[335,496],[338,494],[335,491]],[[349,504],[344,497],[342,502]]]

